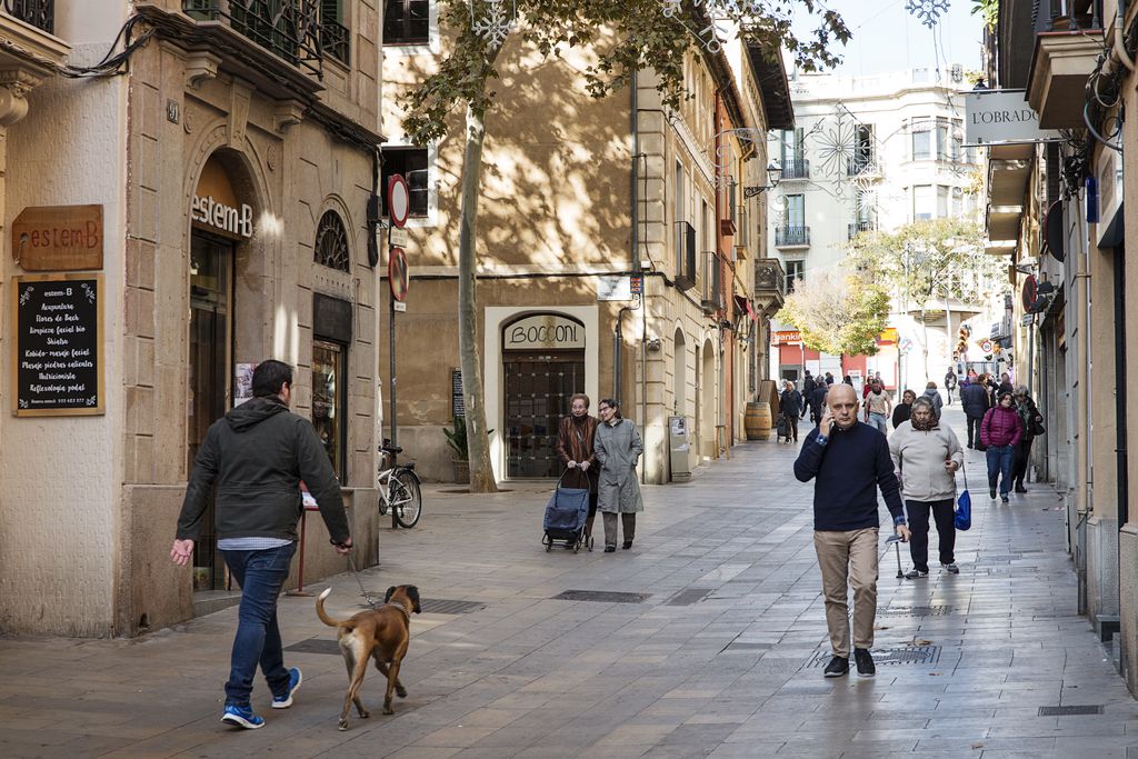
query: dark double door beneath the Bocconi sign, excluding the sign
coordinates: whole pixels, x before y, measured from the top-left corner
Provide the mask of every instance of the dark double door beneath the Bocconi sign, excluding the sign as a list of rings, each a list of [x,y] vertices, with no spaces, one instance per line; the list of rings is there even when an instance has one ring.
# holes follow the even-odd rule
[[[503,364],[506,477],[558,477],[558,423],[585,391],[585,352],[509,352]]]

